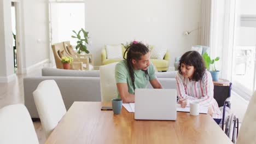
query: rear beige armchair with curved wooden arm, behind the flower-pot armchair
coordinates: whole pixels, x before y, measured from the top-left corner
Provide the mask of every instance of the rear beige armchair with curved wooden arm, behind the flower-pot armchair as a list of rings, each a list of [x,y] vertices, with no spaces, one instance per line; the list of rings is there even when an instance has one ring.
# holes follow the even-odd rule
[[[72,45],[70,44],[70,41],[63,41],[62,44],[63,44],[64,50],[66,51],[68,56],[71,56],[73,58],[85,58],[85,57],[88,57],[89,58],[89,63],[92,64],[92,55],[91,54],[81,55],[81,54],[75,52],[73,47],[72,47]]]

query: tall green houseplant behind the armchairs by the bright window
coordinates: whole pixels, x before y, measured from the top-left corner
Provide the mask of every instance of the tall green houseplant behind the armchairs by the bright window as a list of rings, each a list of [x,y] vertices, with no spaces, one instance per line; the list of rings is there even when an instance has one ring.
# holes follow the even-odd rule
[[[78,33],[77,32],[75,32],[75,31],[72,31],[72,32],[74,32],[75,33],[75,36],[74,35],[72,35],[71,37],[72,38],[75,38],[75,39],[78,39],[77,40],[77,46],[75,46],[75,49],[77,50],[77,53],[82,53],[83,51],[85,52],[85,53],[89,53],[89,51],[88,51],[88,49],[87,49],[87,47],[86,47],[86,44],[88,44],[88,33],[89,32],[86,32],[86,31],[84,31],[84,29],[83,28],[81,28],[80,29],[80,31],[78,31]],[[83,37],[80,35],[80,33],[83,33]]]

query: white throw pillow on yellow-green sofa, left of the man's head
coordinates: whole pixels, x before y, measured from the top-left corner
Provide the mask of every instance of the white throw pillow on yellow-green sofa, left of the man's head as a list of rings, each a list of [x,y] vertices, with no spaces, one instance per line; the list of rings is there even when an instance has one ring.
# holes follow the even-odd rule
[[[106,45],[107,58],[123,58],[121,45]]]

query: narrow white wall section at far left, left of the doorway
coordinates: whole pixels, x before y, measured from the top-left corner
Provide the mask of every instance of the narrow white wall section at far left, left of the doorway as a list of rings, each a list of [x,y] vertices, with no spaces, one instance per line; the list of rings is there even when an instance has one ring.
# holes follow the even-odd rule
[[[13,64],[13,34],[11,32],[11,2],[0,2],[0,81],[14,74]]]

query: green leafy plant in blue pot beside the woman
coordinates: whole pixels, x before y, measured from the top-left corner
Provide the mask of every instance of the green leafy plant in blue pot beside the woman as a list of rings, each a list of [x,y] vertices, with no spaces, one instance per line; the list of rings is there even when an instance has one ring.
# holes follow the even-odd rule
[[[216,57],[214,59],[211,59],[210,56],[208,56],[208,53],[203,53],[202,55],[203,60],[205,61],[205,66],[208,70],[210,70],[210,73],[212,75],[213,81],[219,80],[219,70],[216,69],[215,62],[219,61],[219,57]],[[211,66],[211,69],[210,69]]]

